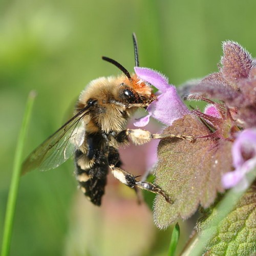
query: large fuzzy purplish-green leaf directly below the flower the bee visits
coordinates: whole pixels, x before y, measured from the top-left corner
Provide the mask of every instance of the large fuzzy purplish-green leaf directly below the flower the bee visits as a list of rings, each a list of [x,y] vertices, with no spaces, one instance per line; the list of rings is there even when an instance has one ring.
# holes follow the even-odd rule
[[[192,115],[186,115],[167,127],[164,133],[207,136],[207,127]],[[158,146],[155,183],[173,200],[167,203],[156,196],[154,219],[159,228],[166,228],[179,217],[187,219],[201,204],[209,207],[217,192],[223,192],[221,176],[232,166],[231,145],[227,140],[198,138],[187,140],[163,139]]]

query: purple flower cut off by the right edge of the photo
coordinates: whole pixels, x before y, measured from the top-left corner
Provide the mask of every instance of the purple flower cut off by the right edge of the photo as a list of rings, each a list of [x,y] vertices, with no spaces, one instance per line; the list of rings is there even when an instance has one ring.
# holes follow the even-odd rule
[[[232,147],[234,171],[223,175],[222,184],[230,188],[239,184],[241,189],[248,187],[245,177],[256,166],[256,129],[246,129],[239,133]]]

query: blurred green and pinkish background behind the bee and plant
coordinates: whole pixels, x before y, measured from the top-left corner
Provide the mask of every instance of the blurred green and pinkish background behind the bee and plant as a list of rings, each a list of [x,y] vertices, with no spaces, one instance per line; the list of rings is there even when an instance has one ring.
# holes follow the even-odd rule
[[[255,56],[255,10],[254,0],[2,0],[0,241],[30,90],[38,96],[24,156],[68,118],[89,81],[119,73],[102,55],[132,72],[132,32],[140,65],[160,70],[178,85],[217,71],[224,40],[238,41]],[[109,183],[102,207],[96,208],[78,191],[72,161],[22,177],[11,255],[166,255],[170,230],[158,231],[151,211],[138,206],[130,190]],[[190,227],[181,225],[182,246]]]

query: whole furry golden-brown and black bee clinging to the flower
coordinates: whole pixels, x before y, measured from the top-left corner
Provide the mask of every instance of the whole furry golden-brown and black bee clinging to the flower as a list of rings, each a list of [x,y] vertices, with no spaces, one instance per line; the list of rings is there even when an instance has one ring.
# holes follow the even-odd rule
[[[133,43],[135,65],[139,66],[135,34]],[[161,188],[139,181],[138,176],[123,170],[118,152],[119,146],[129,143],[129,138],[143,144],[157,137],[140,129],[126,129],[127,120],[134,112],[155,100],[152,88],[136,74],[130,75],[117,61],[102,59],[115,65],[122,74],[100,77],[88,84],[79,96],[74,116],[29,155],[23,164],[23,174],[35,168],[56,168],[74,155],[79,187],[95,205],[101,204],[109,168],[125,185],[160,194],[169,202]]]

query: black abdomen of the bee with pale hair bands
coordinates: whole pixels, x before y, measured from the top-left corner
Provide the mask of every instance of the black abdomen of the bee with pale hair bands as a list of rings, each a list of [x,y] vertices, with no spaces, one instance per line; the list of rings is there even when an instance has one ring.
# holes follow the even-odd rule
[[[108,162],[105,156],[100,153],[97,158],[90,160],[90,164],[88,164],[88,161],[87,155],[79,150],[76,151],[76,179],[83,194],[88,197],[93,204],[100,206],[106,185]]]

